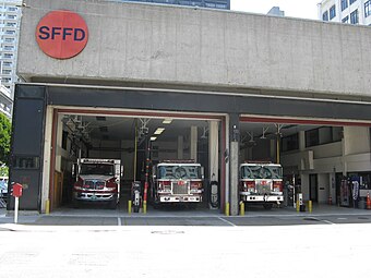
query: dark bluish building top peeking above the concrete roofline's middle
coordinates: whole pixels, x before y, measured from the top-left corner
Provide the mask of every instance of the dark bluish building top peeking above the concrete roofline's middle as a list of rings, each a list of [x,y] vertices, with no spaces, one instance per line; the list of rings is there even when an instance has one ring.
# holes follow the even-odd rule
[[[118,2],[148,2],[230,10],[230,0],[118,0]]]

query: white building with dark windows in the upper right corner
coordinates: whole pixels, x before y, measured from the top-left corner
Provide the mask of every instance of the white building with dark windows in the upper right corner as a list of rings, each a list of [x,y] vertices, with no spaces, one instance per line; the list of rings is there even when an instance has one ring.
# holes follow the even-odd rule
[[[371,25],[371,0],[324,0],[319,3],[319,19]]]

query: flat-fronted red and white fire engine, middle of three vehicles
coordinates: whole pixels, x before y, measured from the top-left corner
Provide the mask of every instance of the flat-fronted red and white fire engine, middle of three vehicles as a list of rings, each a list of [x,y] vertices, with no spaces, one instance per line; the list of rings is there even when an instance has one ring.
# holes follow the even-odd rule
[[[202,202],[204,169],[193,160],[167,160],[153,167],[151,195],[154,206]]]

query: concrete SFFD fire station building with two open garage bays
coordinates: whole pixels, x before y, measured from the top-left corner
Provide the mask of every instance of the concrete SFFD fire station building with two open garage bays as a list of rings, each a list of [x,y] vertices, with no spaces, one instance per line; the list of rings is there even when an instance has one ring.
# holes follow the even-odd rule
[[[371,28],[96,0],[23,8],[10,180],[21,209],[69,202],[77,157],[193,159],[239,210],[239,164],[271,160],[304,200],[371,186]],[[161,128],[161,134],[155,131]],[[122,192],[130,185],[123,185]],[[207,192],[207,190],[206,190]],[[207,197],[205,197],[207,201]],[[228,205],[228,206],[227,206]]]

